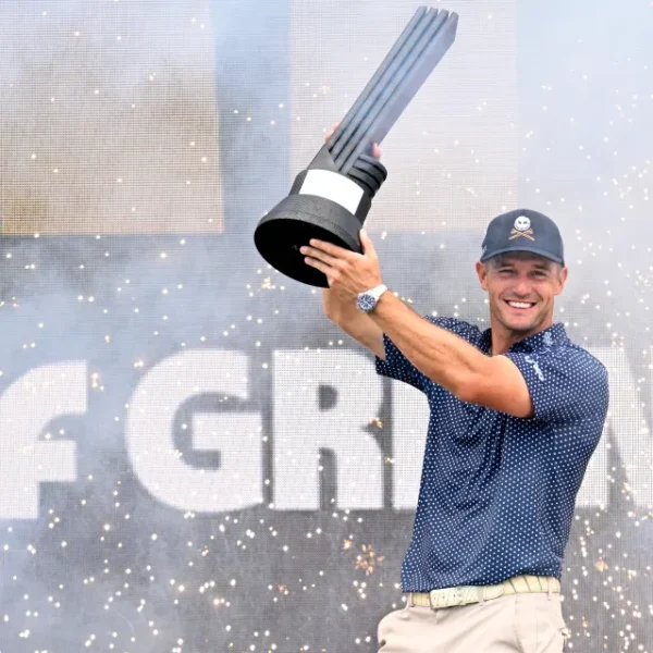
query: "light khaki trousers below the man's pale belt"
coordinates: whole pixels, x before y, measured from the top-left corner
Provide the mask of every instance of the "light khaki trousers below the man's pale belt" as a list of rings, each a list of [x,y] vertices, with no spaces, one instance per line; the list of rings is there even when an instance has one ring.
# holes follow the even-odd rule
[[[432,609],[407,605],[379,621],[379,653],[562,653],[557,593],[509,594]]]

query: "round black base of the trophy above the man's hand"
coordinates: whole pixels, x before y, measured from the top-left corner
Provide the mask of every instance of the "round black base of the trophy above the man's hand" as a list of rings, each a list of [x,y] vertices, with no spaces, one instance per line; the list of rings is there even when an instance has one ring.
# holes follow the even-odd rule
[[[326,275],[309,266],[299,251],[318,238],[362,252],[360,221],[338,204],[315,195],[288,195],[259,222],[254,242],[261,256],[282,274],[307,285],[328,288]]]

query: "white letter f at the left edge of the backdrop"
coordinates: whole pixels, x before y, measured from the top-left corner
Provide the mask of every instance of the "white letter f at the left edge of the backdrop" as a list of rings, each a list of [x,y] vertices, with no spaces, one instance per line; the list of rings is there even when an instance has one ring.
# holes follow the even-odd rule
[[[0,397],[0,519],[37,519],[40,483],[77,480],[77,445],[41,440],[63,415],[86,412],[86,362],[29,370]]]

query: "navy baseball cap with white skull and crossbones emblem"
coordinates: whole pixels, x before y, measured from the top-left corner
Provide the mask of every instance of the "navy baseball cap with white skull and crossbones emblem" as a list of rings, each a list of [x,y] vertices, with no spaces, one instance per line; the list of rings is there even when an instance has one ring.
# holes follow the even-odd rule
[[[517,209],[497,215],[488,225],[481,262],[497,254],[531,251],[565,264],[563,237],[555,222],[538,211]]]

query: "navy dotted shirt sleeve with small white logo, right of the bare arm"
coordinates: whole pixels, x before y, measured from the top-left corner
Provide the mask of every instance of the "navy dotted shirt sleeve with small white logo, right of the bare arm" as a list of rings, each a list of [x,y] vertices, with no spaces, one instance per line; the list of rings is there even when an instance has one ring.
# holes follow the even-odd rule
[[[537,419],[605,420],[609,396],[607,370],[584,349],[554,347],[504,356],[526,380]]]

